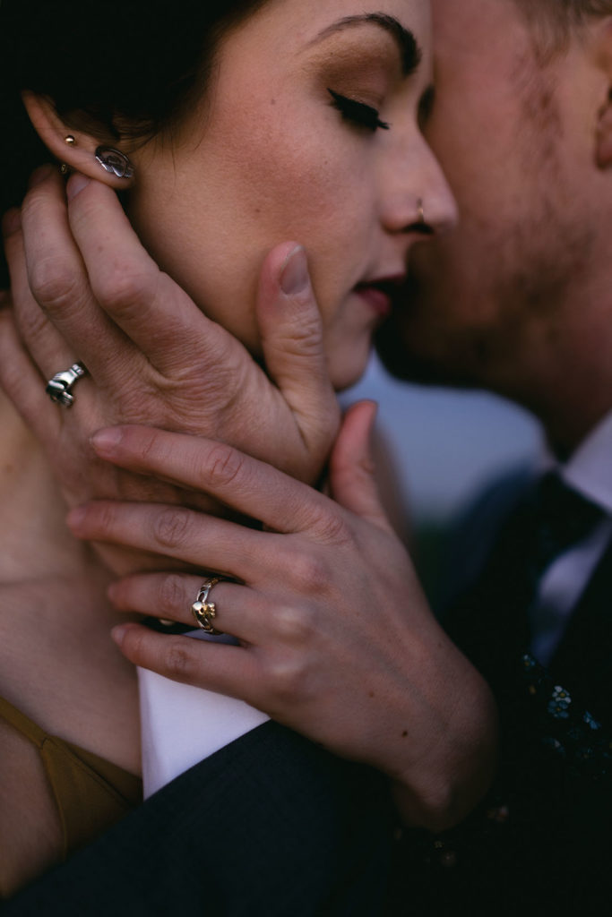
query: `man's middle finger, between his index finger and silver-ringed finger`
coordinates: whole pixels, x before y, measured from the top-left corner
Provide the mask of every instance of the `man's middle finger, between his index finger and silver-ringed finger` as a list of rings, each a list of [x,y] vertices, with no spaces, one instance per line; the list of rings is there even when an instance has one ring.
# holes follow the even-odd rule
[[[69,364],[82,359],[93,376],[99,370],[107,371],[108,362],[115,364],[126,344],[95,303],[68,225],[64,186],[56,171],[43,173],[28,191],[22,224],[28,289],[61,336],[53,333],[51,342],[58,348],[58,339],[65,341]],[[61,369],[57,354],[50,356],[50,326],[30,311],[23,323],[23,337],[44,374]]]

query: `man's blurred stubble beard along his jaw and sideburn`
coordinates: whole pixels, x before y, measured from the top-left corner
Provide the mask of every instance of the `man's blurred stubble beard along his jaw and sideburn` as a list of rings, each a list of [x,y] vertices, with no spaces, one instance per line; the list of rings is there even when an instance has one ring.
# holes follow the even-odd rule
[[[491,214],[480,214],[466,195],[452,238],[413,251],[406,290],[377,337],[394,375],[487,388],[532,406],[542,384],[538,348],[562,334],[594,244],[563,169],[554,90],[548,67],[521,62],[517,173],[525,180],[517,197],[500,197]]]

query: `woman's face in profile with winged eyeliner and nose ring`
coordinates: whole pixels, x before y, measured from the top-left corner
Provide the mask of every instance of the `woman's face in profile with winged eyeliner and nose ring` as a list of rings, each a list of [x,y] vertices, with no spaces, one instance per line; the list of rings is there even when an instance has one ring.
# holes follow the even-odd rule
[[[385,282],[423,238],[417,200],[431,226],[454,220],[417,126],[430,58],[427,0],[270,0],[224,39],[180,142],[132,157],[140,237],[254,353],[261,262],[295,239],[332,381],[356,381],[390,308]]]

